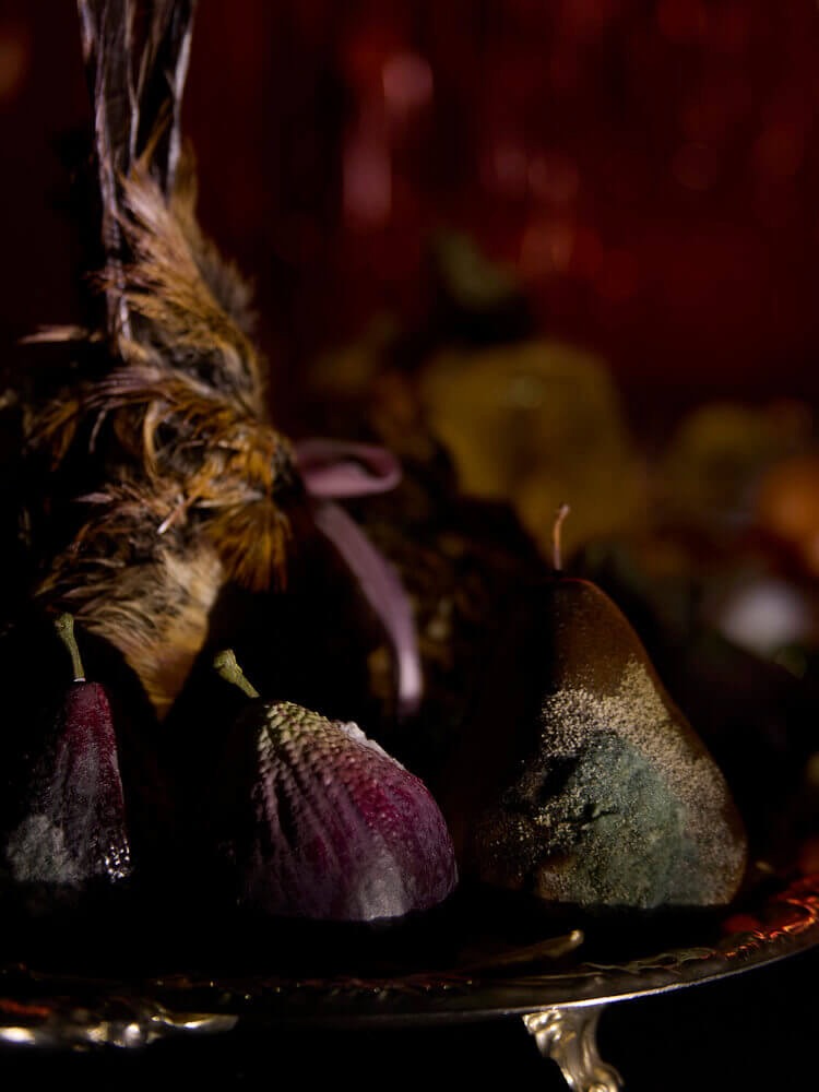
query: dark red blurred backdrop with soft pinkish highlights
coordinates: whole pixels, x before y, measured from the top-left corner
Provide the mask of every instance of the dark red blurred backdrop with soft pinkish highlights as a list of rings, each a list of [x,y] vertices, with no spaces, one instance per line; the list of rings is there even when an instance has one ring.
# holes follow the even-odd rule
[[[812,0],[201,0],[186,99],[285,379],[458,227],[639,405],[819,394],[818,109]],[[73,4],[2,0],[4,344],[75,306],[86,120]]]

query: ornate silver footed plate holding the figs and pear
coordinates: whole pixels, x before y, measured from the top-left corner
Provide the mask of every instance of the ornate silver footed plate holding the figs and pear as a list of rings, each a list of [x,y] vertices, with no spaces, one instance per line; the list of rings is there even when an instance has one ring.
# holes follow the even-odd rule
[[[584,961],[575,929],[498,949],[441,971],[330,977],[262,973],[233,977],[82,977],[33,964],[0,976],[0,1044],[88,1049],[144,1047],[170,1036],[224,1033],[241,1021],[289,1026],[397,1028],[521,1018],[574,1092],[616,1092],[600,1057],[604,1009],[771,964],[819,943],[819,874],[770,889],[741,914],[726,912],[720,939],[646,952],[627,962]]]

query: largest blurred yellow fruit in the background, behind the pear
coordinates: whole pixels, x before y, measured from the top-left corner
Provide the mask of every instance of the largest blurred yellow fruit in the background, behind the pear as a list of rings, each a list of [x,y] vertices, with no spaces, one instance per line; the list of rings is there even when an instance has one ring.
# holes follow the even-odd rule
[[[563,501],[567,554],[642,522],[644,468],[593,354],[551,340],[450,349],[424,369],[420,399],[462,489],[510,501],[544,551]]]

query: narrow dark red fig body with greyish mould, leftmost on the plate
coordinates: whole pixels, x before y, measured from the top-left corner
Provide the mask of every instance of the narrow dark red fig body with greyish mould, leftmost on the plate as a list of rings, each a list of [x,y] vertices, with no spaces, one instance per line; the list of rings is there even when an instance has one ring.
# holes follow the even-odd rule
[[[98,682],[67,689],[24,803],[25,817],[5,848],[17,882],[75,888],[130,875],[117,740]]]

